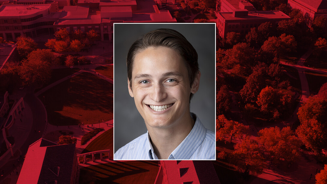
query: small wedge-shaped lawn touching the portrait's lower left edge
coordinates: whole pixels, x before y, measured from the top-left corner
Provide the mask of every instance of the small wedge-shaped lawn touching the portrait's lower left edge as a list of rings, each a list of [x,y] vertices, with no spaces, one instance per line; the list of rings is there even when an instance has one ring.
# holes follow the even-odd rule
[[[113,157],[113,128],[107,130],[97,138],[95,138],[82,153],[88,153],[100,150],[110,150],[110,155]]]

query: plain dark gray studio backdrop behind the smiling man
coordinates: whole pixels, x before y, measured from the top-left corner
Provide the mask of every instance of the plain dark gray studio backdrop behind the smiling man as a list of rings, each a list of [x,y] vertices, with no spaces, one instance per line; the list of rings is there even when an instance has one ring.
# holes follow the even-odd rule
[[[114,24],[114,152],[147,131],[128,93],[126,56],[138,37],[158,28],[177,30],[197,50],[201,79],[191,112],[215,132],[215,24]]]

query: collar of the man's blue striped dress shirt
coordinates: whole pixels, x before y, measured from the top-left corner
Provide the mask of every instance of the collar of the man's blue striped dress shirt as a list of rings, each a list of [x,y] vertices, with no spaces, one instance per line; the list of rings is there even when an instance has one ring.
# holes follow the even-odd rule
[[[170,154],[168,159],[178,159],[178,160],[190,159],[190,157],[197,150],[197,148],[205,138],[206,129],[202,125],[200,119],[194,113],[191,113],[191,116],[193,119],[196,118],[191,132],[186,136],[186,138],[181,142],[181,144],[178,145],[177,148]],[[148,150],[149,159],[158,159],[158,157],[154,153],[150,141],[150,135],[148,132],[147,132],[146,142],[147,142],[146,150]]]

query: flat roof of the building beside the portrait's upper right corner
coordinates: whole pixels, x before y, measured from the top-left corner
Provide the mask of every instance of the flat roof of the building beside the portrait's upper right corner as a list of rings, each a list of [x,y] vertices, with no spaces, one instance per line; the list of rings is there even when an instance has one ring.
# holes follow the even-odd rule
[[[248,16],[234,17],[233,12],[216,12],[226,20],[253,20],[253,19],[289,19],[282,11],[249,11]]]

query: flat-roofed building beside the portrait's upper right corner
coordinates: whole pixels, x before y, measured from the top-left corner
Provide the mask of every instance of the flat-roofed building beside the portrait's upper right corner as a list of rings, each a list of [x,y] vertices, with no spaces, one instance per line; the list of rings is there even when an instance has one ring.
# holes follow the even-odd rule
[[[224,38],[228,32],[247,34],[251,28],[257,28],[260,24],[271,22],[277,27],[282,20],[290,19],[285,13],[275,11],[248,11],[247,9],[233,10],[233,12],[217,12],[216,25],[219,36]]]

